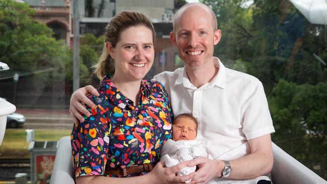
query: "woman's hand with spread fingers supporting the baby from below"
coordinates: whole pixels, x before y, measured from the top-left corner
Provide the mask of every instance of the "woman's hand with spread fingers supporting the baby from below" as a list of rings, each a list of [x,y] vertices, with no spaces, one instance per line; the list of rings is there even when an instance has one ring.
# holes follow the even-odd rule
[[[189,166],[189,163],[189,161],[185,161],[173,167],[165,167],[165,161],[160,161],[148,174],[145,174],[145,176],[149,177],[150,183],[185,183],[185,181],[195,176],[195,172],[184,176],[177,176],[175,173],[182,170],[185,166]],[[189,183],[193,184],[195,182],[191,181]]]

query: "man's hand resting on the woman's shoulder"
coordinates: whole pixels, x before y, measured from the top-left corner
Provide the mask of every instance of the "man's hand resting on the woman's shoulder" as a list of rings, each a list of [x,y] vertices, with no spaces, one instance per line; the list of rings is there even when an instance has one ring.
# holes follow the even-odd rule
[[[84,122],[84,118],[82,115],[80,115],[80,113],[85,114],[87,117],[91,115],[90,112],[80,103],[83,102],[84,104],[93,108],[95,105],[90,99],[86,97],[89,94],[97,97],[100,95],[97,89],[94,88],[92,85],[87,85],[85,87],[78,88],[71,95],[69,113],[74,122],[77,122],[78,120],[80,122]]]

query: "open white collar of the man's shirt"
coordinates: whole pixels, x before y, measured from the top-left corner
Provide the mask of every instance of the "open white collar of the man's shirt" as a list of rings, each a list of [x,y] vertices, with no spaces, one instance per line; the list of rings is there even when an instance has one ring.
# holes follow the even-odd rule
[[[226,68],[220,61],[218,57],[213,57],[213,63],[215,67],[219,67],[218,73],[216,76],[207,83],[207,88],[211,88],[213,86],[220,87],[222,89],[226,86]],[[179,74],[178,78],[175,81],[175,85],[183,84],[184,87],[197,89],[190,81],[189,77],[187,76],[185,67],[182,68],[182,73]]]

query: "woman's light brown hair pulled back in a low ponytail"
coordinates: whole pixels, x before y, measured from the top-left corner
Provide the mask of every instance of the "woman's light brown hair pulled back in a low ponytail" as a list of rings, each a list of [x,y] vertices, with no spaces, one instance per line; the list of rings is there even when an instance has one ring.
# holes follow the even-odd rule
[[[123,11],[115,15],[106,26],[105,43],[109,42],[109,44],[115,48],[120,39],[120,34],[126,29],[135,26],[145,26],[146,28],[149,28],[152,31],[152,41],[154,42],[155,31],[151,21],[141,13],[135,11]],[[96,68],[94,72],[97,77],[102,80],[107,73],[111,75],[115,73],[114,64],[114,59],[108,53],[105,44],[98,63],[93,66]]]

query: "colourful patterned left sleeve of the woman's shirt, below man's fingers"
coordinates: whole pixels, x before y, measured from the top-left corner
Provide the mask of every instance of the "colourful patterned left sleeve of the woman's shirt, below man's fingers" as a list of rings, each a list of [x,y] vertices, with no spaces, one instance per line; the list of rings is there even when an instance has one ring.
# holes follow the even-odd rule
[[[73,170],[75,177],[83,175],[103,175],[107,162],[109,147],[108,118],[104,115],[105,95],[89,97],[96,105],[91,109],[84,105],[92,114],[83,123],[77,122],[71,132]]]

